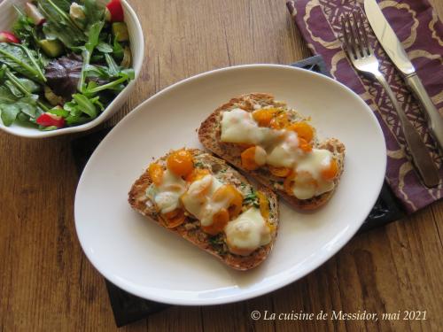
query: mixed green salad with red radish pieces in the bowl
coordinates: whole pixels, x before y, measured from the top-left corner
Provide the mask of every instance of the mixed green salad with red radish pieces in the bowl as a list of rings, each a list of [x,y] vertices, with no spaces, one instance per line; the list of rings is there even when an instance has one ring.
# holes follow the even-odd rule
[[[4,126],[41,130],[94,120],[129,81],[128,28],[120,0],[36,0],[0,32]]]

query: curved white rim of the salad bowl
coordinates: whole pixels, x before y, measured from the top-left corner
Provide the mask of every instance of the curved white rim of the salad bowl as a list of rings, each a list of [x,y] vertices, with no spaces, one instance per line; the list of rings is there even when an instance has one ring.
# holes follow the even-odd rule
[[[137,58],[136,62],[133,64],[133,68],[134,68],[134,72],[135,72],[134,80],[129,81],[128,85],[120,91],[120,93],[113,99],[111,104],[108,104],[107,107],[105,108],[105,110],[103,112],[101,112],[100,115],[98,115],[96,119],[89,121],[87,123],[84,123],[82,125],[74,126],[74,127],[64,127],[61,129],[51,130],[51,131],[43,131],[43,130],[38,130],[36,128],[31,128],[31,130],[26,131],[26,132],[18,132],[14,127],[6,127],[6,126],[4,126],[3,122],[0,121],[0,129],[1,130],[3,130],[4,132],[6,132],[8,134],[12,134],[12,135],[19,136],[19,137],[45,138],[45,137],[54,137],[54,136],[58,136],[58,135],[66,135],[66,134],[73,134],[73,133],[80,133],[83,131],[87,131],[93,127],[97,127],[100,123],[102,123],[108,119],[109,112],[111,112],[111,110],[115,106],[115,103],[118,101],[117,99],[119,97],[121,97],[123,94],[129,94],[132,91],[132,89],[135,88],[135,84],[136,84],[138,77],[140,76],[140,73],[142,70],[142,65],[143,65],[143,60],[144,60],[144,34],[143,34],[142,26],[140,24],[140,20],[138,19],[134,9],[130,6],[130,4],[128,4],[128,2],[126,0],[120,0],[120,1],[121,1],[121,4],[123,4],[123,7],[125,9],[125,14],[128,14],[128,16],[130,16],[131,19],[134,20],[134,24],[136,26],[136,35],[132,35],[132,36],[133,36],[134,42],[140,44],[140,52],[138,53],[138,54],[140,54],[140,56]],[[8,10],[9,10],[11,8],[13,2],[14,2],[13,0],[4,0],[3,3],[0,3],[0,9],[6,10],[6,8],[3,8],[3,7],[8,6]],[[20,127],[23,127],[23,126],[20,126]],[[32,129],[34,129],[34,130],[32,130]]]

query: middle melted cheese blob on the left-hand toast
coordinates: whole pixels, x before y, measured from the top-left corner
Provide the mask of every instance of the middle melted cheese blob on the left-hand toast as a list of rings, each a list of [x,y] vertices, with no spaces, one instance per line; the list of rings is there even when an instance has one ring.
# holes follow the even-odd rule
[[[186,194],[182,197],[184,208],[200,220],[202,226],[210,226],[213,216],[229,205],[228,200],[214,202],[214,192],[222,186],[213,175],[206,175],[202,179],[193,181]]]

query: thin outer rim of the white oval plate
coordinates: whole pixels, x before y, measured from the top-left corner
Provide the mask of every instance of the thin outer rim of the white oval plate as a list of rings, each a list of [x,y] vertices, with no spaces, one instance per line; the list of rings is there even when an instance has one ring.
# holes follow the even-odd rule
[[[124,124],[126,121],[132,119],[132,117],[136,116],[136,114],[138,112],[143,112],[144,106],[146,104],[149,104],[151,102],[152,99],[158,98],[164,94],[166,94],[167,92],[176,89],[177,86],[183,85],[185,83],[187,83],[188,81],[194,81],[194,80],[198,80],[200,78],[209,76],[209,75],[214,75],[217,73],[221,73],[221,72],[226,72],[226,71],[236,71],[239,69],[244,69],[244,68],[277,68],[277,69],[284,69],[284,70],[289,70],[289,71],[294,71],[294,72],[307,72],[309,74],[312,74],[314,76],[319,77],[320,79],[323,79],[325,81],[330,81],[330,83],[332,84],[338,84],[338,86],[341,89],[345,89],[348,93],[350,93],[355,99],[358,100],[359,103],[361,103],[361,105],[363,106],[363,108],[366,110],[366,112],[369,113],[369,118],[377,125],[377,131],[378,134],[380,135],[380,137],[382,137],[383,142],[385,143],[385,135],[383,135],[383,131],[382,128],[380,127],[380,124],[377,120],[376,115],[374,114],[374,112],[370,109],[369,105],[366,104],[366,102],[359,96],[357,95],[352,89],[346,87],[346,85],[344,85],[343,83],[336,81],[326,75],[323,75],[322,73],[315,73],[313,71],[304,69],[304,68],[298,68],[298,67],[293,67],[293,66],[289,66],[289,65],[277,65],[277,64],[247,64],[247,65],[238,65],[238,66],[227,66],[227,67],[222,67],[222,68],[217,68],[214,70],[210,70],[210,71],[206,71],[204,73],[198,73],[195,75],[192,75],[188,78],[185,78],[181,81],[176,81],[175,83],[167,86],[164,89],[159,90],[157,93],[153,94],[151,97],[148,97],[147,99],[145,99],[142,103],[138,104],[131,112],[129,112],[128,114],[126,114],[112,129],[111,131],[105,135],[105,138],[97,145],[97,148],[93,151],[93,153],[91,154],[91,156],[89,157],[89,160],[86,164],[86,166],[84,166],[83,170],[82,170],[82,175],[78,181],[76,190],[75,190],[75,197],[74,197],[74,224],[75,224],[75,232],[77,235],[77,238],[81,244],[82,247],[82,251],[84,252],[84,254],[86,255],[86,257],[89,259],[89,262],[92,264],[92,266],[94,266],[95,269],[97,269],[98,273],[102,275],[102,277],[104,277],[106,280],[108,280],[109,282],[112,282],[114,285],[116,285],[117,287],[119,287],[121,290],[125,290],[128,293],[131,293],[133,295],[135,295],[136,297],[142,297],[144,299],[147,300],[151,300],[151,301],[156,301],[156,302],[160,302],[160,303],[165,303],[165,304],[169,304],[169,305],[189,305],[189,306],[194,306],[194,305],[223,305],[223,304],[229,304],[229,303],[234,303],[234,302],[239,302],[239,301],[244,301],[247,299],[251,299],[253,297],[260,297],[262,295],[268,294],[270,292],[273,292],[275,290],[279,290],[287,285],[289,285],[292,282],[297,282],[299,281],[301,278],[305,277],[307,274],[312,273],[313,271],[315,271],[317,268],[319,268],[320,266],[323,266],[323,264],[331,259],[333,256],[335,256],[338,251],[340,251],[345,245],[346,243],[348,243],[349,241],[352,240],[352,238],[354,237],[354,235],[357,233],[358,229],[361,227],[362,223],[364,222],[365,218],[363,218],[363,220],[356,220],[354,222],[354,229],[348,231],[346,236],[340,236],[338,239],[338,242],[334,243],[333,246],[333,250],[331,254],[328,255],[323,255],[322,257],[320,257],[319,259],[315,260],[315,263],[313,264],[312,267],[308,268],[307,271],[303,272],[302,274],[293,274],[291,273],[284,281],[279,280],[277,282],[272,282],[272,283],[268,283],[267,285],[261,287],[259,290],[250,290],[250,291],[246,291],[246,292],[242,292],[239,294],[235,294],[235,295],[229,295],[228,297],[187,297],[187,298],[171,298],[171,297],[163,297],[161,295],[157,294],[153,294],[150,293],[149,290],[146,290],[146,288],[140,289],[140,287],[137,286],[133,286],[131,284],[129,284],[128,282],[122,282],[120,280],[120,277],[113,275],[112,273],[106,273],[105,272],[105,267],[104,266],[100,266],[101,264],[99,263],[99,261],[97,261],[97,259],[93,259],[90,255],[89,255],[89,251],[85,250],[85,246],[86,244],[82,243],[82,239],[81,236],[79,234],[79,224],[78,224],[78,212],[77,212],[77,196],[79,195],[79,191],[83,186],[83,182],[84,182],[84,176],[83,174],[85,174],[88,169],[89,169],[89,165],[91,163],[94,162],[95,158],[97,158],[97,151],[100,150],[101,146],[107,142],[108,139],[110,139],[111,134],[113,133],[114,130],[118,129],[120,126],[122,126],[122,124]],[[386,147],[385,144],[383,144],[383,149],[385,151],[385,155],[386,155]],[[385,172],[386,172],[386,161],[387,161],[387,156],[383,159],[383,167],[382,169],[384,170],[383,176],[380,176],[380,179],[377,179],[378,183],[377,183],[377,192],[379,193],[382,189],[383,183],[385,181]],[[364,211],[363,215],[369,215],[369,212],[372,209],[372,206],[375,205],[376,201],[377,201],[377,196],[373,197],[371,200],[371,204],[368,205],[369,208],[367,209],[367,211]]]

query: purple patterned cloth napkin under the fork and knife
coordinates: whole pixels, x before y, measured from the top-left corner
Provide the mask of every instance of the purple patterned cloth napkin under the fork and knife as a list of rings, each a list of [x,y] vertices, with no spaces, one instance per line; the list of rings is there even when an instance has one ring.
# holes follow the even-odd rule
[[[427,0],[385,0],[378,3],[408,52],[418,76],[440,114],[443,112],[443,25]],[[374,81],[356,73],[346,58],[341,42],[340,18],[346,12],[361,10],[362,1],[296,0],[287,7],[310,50],[323,56],[331,76],[353,89],[375,112],[385,134],[387,148],[386,181],[408,212],[415,212],[442,197],[442,182],[426,188],[405,153],[405,139],[400,120],[385,91]],[[364,15],[363,15],[364,16]],[[364,16],[365,17],[365,16]],[[418,129],[443,178],[443,160],[432,141],[424,116],[400,74],[386,56],[370,30],[369,39],[381,64],[381,71],[406,110],[408,119]],[[370,137],[368,137],[370,139]]]

